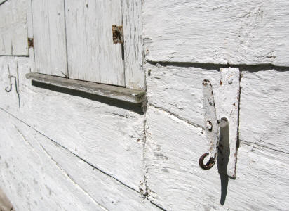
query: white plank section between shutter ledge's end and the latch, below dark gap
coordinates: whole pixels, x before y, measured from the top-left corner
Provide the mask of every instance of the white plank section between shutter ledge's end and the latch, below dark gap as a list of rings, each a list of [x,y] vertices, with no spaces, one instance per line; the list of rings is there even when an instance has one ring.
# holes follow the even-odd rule
[[[212,68],[184,68],[176,66],[145,65],[147,98],[152,106],[203,127],[203,80],[213,86],[216,109],[220,87],[220,71]]]

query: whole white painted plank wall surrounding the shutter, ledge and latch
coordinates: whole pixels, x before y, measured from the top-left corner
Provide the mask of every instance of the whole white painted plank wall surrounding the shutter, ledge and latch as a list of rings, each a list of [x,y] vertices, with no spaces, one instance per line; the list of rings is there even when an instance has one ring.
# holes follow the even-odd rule
[[[23,2],[0,3],[1,16],[4,6],[25,13]],[[289,2],[122,4],[134,17],[123,19],[135,32],[125,30],[128,48],[138,48],[125,52],[126,70],[138,72],[126,80],[139,87],[145,71],[144,115],[32,86],[25,15],[0,20],[0,188],[15,210],[288,210]],[[4,90],[8,66],[19,94],[14,79]],[[228,66],[241,72],[236,179],[198,165],[207,150],[202,82],[217,99]]]

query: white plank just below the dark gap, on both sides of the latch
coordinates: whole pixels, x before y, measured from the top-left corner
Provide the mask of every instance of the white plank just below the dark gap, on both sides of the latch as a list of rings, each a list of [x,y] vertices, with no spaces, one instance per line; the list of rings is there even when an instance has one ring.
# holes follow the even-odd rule
[[[289,71],[249,69],[242,68],[239,138],[288,153]],[[202,82],[209,79],[220,119],[220,71],[149,64],[146,70],[149,104],[200,129],[204,127]]]

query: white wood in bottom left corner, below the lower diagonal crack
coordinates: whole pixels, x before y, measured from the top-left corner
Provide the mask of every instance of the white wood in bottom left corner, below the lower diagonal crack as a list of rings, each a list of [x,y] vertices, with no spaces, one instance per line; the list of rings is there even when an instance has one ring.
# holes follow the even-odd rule
[[[3,110],[0,119],[0,184],[15,210],[102,210],[43,152],[31,128]]]

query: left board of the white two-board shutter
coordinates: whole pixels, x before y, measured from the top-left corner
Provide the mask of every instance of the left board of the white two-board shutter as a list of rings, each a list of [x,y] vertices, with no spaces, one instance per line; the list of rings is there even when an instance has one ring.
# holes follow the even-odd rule
[[[61,1],[32,1],[35,72],[67,76],[65,7]]]

